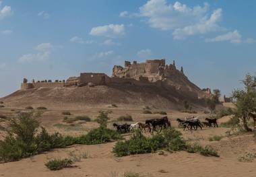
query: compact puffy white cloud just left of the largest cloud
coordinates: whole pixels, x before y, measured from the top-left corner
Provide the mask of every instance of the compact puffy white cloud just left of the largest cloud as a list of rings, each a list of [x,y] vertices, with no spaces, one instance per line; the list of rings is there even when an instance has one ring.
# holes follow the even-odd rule
[[[125,34],[125,26],[123,24],[109,24],[106,26],[97,26],[92,28],[90,35],[105,36],[108,38],[117,38]]]

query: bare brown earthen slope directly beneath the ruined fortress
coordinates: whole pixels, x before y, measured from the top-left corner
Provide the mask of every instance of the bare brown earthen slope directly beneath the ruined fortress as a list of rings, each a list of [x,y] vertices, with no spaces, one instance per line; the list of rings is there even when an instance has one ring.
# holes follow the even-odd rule
[[[30,90],[19,90],[1,98],[5,107],[26,108],[26,106],[45,106],[52,109],[80,109],[88,107],[122,105],[125,108],[154,106],[156,108],[182,108],[185,95],[169,87],[155,85],[98,85],[95,87],[40,87]],[[190,100],[197,108],[203,105],[202,100]]]

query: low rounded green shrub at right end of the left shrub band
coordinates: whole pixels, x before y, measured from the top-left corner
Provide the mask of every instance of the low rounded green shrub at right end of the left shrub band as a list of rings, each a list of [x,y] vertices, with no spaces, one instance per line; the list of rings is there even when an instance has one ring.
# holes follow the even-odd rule
[[[77,143],[85,145],[96,145],[108,143],[113,140],[121,139],[121,135],[117,131],[99,127],[92,129],[86,135],[77,138]]]

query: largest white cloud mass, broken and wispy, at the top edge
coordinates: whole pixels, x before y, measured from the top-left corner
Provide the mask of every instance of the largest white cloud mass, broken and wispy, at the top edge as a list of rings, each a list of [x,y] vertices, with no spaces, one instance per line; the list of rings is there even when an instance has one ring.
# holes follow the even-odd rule
[[[222,19],[222,9],[210,13],[209,5],[189,7],[178,1],[168,4],[166,0],[150,0],[139,7],[139,16],[146,17],[152,28],[173,30],[174,39],[182,39],[195,34],[205,34],[222,30],[218,22]]]

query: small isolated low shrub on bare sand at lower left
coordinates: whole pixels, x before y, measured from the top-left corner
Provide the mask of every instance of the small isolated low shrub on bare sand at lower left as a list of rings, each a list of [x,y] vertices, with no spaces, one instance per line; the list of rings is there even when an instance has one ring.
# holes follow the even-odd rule
[[[72,164],[73,164],[73,161],[70,159],[63,159],[63,160],[54,159],[47,162],[45,166],[50,170],[61,170],[63,168],[71,167]]]

